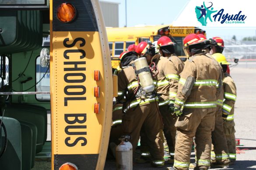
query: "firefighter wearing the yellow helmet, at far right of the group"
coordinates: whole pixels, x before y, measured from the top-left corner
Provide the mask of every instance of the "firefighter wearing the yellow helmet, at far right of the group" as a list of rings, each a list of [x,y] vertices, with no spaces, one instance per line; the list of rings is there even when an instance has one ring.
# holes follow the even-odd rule
[[[234,122],[234,105],[236,100],[236,86],[234,80],[228,74],[228,61],[220,53],[213,54],[214,58],[221,64],[224,72],[223,88],[224,102],[222,106],[222,118],[224,120],[224,133],[228,144],[230,164],[236,160],[236,142],[235,142],[235,122]],[[216,155],[217,159],[217,155]]]

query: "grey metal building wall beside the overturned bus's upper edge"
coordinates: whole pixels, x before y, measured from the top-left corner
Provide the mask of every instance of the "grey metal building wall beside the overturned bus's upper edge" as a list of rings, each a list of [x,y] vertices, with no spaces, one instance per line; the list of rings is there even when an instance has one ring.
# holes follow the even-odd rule
[[[106,27],[119,27],[118,3],[100,1]]]

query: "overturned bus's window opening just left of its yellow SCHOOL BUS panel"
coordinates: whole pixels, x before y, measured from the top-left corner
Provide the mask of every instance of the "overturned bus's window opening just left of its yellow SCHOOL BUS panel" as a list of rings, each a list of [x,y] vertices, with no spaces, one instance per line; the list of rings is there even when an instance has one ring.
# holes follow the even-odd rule
[[[44,78],[42,78],[43,76],[44,76]],[[41,78],[42,78],[42,80],[40,81]],[[40,56],[38,56],[36,58],[36,82],[39,82],[35,88],[36,92],[49,92],[50,91],[50,70],[47,69],[47,67],[41,67]],[[50,94],[36,94],[35,98],[39,101],[49,101]]]

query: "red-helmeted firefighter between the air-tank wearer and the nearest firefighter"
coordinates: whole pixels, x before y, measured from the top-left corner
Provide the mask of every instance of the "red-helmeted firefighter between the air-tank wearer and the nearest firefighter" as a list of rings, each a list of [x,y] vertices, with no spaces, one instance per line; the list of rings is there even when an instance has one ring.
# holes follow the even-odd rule
[[[170,97],[170,103],[169,106],[173,107],[174,105],[174,99],[176,96],[176,90],[178,90],[178,81],[180,73],[182,72],[184,68],[184,62],[177,57],[175,54],[174,49],[174,43],[172,40],[167,36],[162,36],[158,39],[158,47],[159,47],[159,53],[165,57],[168,58],[171,61],[172,69],[169,68],[169,72],[172,75],[172,79],[170,82],[170,88],[174,88],[175,90],[171,90],[169,92]],[[175,67],[173,67],[175,66]],[[166,68],[165,68],[166,69]],[[160,105],[159,105],[160,106]],[[160,107],[161,108],[161,107]],[[175,115],[170,115],[171,112],[167,112],[166,114],[162,113],[164,122],[166,123],[166,128],[164,127],[164,133],[168,144],[170,159],[168,160],[168,163],[174,163],[174,150],[175,150],[175,137],[176,137],[176,127],[174,126],[177,117]]]

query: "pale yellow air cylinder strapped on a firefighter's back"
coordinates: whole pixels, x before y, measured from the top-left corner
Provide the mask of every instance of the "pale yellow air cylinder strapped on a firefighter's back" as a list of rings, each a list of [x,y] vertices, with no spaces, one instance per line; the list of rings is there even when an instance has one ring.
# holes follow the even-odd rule
[[[151,76],[150,68],[147,65],[146,58],[138,58],[134,60],[135,65],[135,73],[139,76],[140,85],[142,89],[146,92],[153,92],[154,91],[154,82]]]

